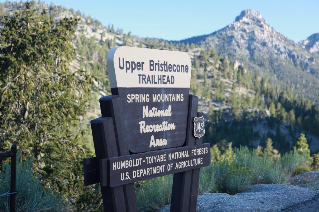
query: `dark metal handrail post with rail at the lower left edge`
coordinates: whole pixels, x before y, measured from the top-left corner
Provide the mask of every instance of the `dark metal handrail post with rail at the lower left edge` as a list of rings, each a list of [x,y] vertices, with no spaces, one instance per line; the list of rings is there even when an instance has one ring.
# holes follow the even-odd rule
[[[0,158],[11,157],[11,176],[10,176],[10,190],[1,196],[10,195],[10,212],[16,211],[16,181],[17,181],[17,145],[12,144],[11,150],[0,153]]]

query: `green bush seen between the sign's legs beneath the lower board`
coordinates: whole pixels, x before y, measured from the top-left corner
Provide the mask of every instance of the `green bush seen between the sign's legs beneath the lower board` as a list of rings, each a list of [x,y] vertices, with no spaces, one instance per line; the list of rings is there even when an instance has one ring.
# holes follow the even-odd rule
[[[173,174],[152,178],[136,188],[138,211],[155,211],[171,202]]]

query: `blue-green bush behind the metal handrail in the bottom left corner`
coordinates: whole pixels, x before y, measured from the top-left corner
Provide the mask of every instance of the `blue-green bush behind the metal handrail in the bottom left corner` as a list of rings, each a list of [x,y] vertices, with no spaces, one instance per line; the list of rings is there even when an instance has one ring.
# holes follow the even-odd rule
[[[31,157],[25,162],[19,163],[20,154],[17,154],[17,191],[16,211],[72,211],[70,205],[62,200],[52,189],[43,190],[39,179],[33,177]],[[5,162],[2,165],[0,175],[0,193],[10,190],[10,165]],[[0,211],[9,211],[10,196],[0,197]]]

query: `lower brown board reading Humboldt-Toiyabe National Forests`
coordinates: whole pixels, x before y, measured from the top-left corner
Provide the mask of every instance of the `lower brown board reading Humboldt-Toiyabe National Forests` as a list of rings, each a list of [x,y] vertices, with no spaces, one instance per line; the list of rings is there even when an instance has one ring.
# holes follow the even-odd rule
[[[108,159],[108,185],[120,186],[210,164],[210,144],[177,147]]]

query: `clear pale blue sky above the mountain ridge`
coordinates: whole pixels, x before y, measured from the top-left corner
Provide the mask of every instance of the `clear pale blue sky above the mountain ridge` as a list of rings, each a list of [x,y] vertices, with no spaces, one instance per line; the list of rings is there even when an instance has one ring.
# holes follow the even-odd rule
[[[319,32],[319,0],[51,1],[140,37],[180,40],[209,34],[233,22],[245,9],[257,10],[271,27],[295,42]]]

